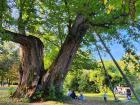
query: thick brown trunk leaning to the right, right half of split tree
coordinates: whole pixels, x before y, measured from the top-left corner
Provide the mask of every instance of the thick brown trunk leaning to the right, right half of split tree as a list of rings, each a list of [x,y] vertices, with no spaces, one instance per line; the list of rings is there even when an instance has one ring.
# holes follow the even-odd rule
[[[52,86],[55,87],[57,96],[62,93],[63,81],[87,29],[88,27],[84,16],[78,15],[75,24],[72,26],[56,60],[50,66],[48,72],[44,75],[42,85],[46,95],[49,95],[49,89]]]

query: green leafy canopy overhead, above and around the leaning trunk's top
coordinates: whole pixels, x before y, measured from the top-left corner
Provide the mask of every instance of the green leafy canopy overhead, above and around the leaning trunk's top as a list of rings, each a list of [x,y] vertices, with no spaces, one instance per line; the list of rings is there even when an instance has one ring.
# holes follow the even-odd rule
[[[139,0],[130,0],[130,2],[122,2],[122,0],[49,0],[46,2],[11,0],[3,1],[0,4],[2,4],[0,13],[3,17],[1,21],[4,29],[16,32],[17,27],[20,26],[26,31],[26,34],[55,42],[58,46],[64,42],[79,13],[86,17],[87,24],[90,26],[89,37],[84,39],[91,39],[90,34],[95,31],[96,33],[107,33],[108,40],[110,37],[115,40],[124,39],[122,35],[116,33],[116,30],[124,28],[129,31],[129,26],[132,25],[138,28],[132,23],[135,21],[137,24],[140,15]],[[46,37],[55,37],[56,40],[53,41],[53,38],[50,40]]]

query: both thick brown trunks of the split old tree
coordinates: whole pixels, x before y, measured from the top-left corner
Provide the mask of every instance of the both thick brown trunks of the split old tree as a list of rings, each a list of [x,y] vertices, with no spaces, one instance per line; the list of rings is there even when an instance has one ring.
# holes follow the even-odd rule
[[[87,29],[85,17],[81,14],[77,15],[56,60],[44,76],[42,76],[44,72],[43,43],[36,37],[20,35],[5,30],[4,33],[11,36],[11,41],[22,45],[20,83],[13,97],[32,97],[42,78],[41,85],[45,95],[49,95],[51,86],[55,87],[57,95],[61,94],[63,81]]]

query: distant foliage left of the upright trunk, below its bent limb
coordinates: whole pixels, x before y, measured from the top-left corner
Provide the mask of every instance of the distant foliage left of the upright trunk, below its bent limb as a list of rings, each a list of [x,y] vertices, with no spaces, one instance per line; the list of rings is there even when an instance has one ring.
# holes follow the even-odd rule
[[[8,84],[17,82],[19,68],[17,49],[13,43],[5,42],[3,46],[0,46],[2,48],[0,53],[1,85],[4,84],[4,81]]]

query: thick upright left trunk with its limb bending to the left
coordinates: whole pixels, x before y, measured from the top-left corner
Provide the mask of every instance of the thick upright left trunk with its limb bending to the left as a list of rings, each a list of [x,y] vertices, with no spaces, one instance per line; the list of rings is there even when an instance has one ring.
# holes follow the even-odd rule
[[[44,70],[43,43],[34,36],[25,36],[5,30],[11,41],[22,45],[20,81],[13,98],[33,96]]]

